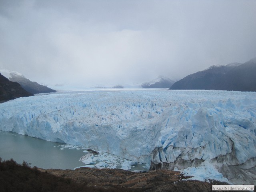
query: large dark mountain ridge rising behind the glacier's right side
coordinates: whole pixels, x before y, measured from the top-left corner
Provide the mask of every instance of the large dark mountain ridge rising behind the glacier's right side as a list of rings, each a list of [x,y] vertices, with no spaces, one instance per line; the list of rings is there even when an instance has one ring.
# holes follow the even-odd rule
[[[175,82],[170,90],[256,91],[256,58],[244,64],[211,66]]]

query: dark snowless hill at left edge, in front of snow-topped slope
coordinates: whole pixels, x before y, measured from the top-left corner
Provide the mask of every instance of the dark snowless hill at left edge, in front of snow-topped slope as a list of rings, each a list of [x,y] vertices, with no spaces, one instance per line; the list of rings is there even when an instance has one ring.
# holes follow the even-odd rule
[[[17,82],[11,82],[0,73],[0,103],[19,97],[32,96]]]

